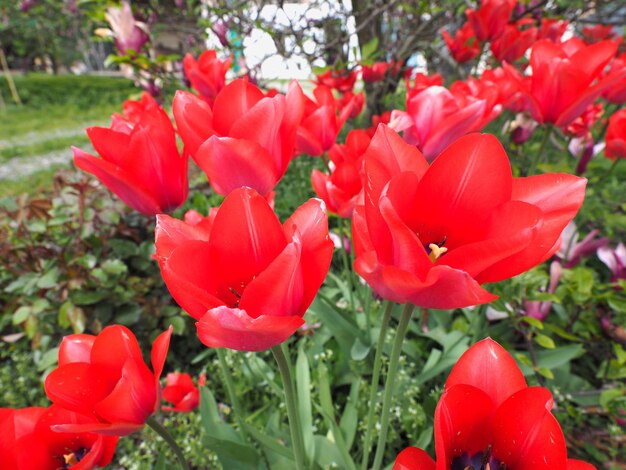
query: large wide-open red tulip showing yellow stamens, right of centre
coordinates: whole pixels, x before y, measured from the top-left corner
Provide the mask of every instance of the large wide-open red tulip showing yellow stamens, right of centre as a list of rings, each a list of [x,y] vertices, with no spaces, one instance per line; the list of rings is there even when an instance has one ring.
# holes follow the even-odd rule
[[[464,136],[429,166],[386,126],[365,153],[365,181],[352,219],[356,272],[384,298],[438,309],[490,302],[480,284],[554,254],[587,182],[513,178],[491,135]]]

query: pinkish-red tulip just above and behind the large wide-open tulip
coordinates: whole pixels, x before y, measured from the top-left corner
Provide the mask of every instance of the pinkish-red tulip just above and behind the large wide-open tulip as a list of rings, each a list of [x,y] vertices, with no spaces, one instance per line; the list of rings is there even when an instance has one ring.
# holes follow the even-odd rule
[[[406,112],[394,111],[389,125],[404,131],[404,139],[432,160],[462,135],[481,130],[495,117],[495,104],[465,90],[455,94],[442,86],[431,86],[409,94]]]

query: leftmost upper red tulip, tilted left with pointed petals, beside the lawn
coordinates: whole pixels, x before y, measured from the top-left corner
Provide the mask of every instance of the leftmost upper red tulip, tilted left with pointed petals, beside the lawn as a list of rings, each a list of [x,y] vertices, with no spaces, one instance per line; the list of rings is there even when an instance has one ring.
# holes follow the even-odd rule
[[[178,152],[167,113],[150,95],[124,102],[124,114],[114,114],[109,129],[90,127],[87,135],[101,158],[72,147],[74,163],[127,205],[151,216],[185,202],[187,158]]]

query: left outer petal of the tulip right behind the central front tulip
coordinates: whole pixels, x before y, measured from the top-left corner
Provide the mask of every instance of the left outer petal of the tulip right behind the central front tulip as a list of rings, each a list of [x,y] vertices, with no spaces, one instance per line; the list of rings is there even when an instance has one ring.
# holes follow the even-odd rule
[[[215,134],[213,111],[204,100],[181,90],[174,96],[172,111],[185,149],[195,158],[198,147]]]

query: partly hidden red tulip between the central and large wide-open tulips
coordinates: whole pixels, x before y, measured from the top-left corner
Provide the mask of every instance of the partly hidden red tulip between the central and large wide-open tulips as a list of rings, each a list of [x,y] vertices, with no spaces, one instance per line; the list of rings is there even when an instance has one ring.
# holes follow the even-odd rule
[[[328,152],[331,174],[313,170],[311,181],[315,193],[328,210],[339,217],[352,217],[357,199],[363,190],[363,156],[371,137],[361,129],[348,133],[345,144],[335,144]]]

